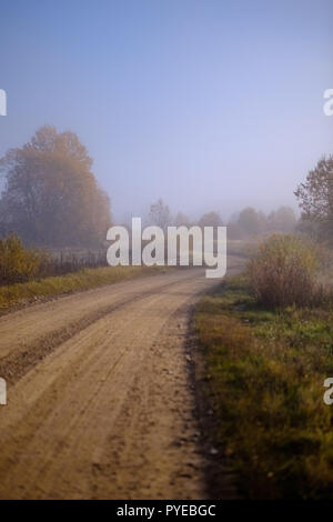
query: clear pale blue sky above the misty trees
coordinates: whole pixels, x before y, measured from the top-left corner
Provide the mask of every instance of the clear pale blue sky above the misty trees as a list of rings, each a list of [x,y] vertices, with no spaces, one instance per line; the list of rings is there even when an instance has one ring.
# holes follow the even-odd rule
[[[0,154],[75,131],[115,218],[295,205],[333,118],[332,0],[0,3]]]

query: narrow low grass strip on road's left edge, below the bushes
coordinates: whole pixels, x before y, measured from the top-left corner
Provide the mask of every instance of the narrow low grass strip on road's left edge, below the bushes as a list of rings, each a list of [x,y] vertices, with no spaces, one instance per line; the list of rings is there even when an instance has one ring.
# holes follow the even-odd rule
[[[129,279],[162,273],[161,267],[102,267],[52,278],[0,287],[0,314],[37,300],[89,290]]]

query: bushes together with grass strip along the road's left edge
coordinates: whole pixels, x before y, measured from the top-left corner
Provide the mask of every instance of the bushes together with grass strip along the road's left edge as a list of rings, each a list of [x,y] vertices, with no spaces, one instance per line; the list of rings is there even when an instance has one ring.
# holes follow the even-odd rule
[[[39,299],[162,271],[161,267],[100,267],[94,262],[91,255],[57,260],[46,251],[27,249],[14,234],[8,235],[0,240],[0,314]]]

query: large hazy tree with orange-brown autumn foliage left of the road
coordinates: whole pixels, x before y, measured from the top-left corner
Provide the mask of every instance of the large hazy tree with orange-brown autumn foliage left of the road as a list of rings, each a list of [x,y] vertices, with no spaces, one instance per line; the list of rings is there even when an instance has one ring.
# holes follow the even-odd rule
[[[28,244],[98,247],[111,224],[110,201],[73,132],[42,127],[0,160],[0,235]]]

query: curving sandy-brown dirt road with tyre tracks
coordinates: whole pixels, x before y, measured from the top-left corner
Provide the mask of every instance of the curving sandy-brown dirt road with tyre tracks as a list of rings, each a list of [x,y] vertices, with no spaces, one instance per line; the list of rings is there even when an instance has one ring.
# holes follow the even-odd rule
[[[203,499],[186,335],[202,269],[0,318],[1,499]]]

